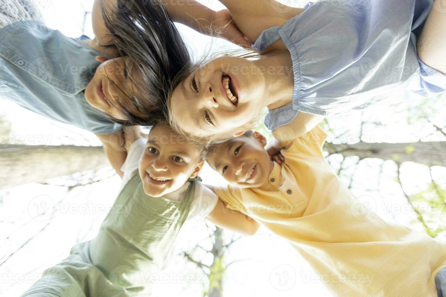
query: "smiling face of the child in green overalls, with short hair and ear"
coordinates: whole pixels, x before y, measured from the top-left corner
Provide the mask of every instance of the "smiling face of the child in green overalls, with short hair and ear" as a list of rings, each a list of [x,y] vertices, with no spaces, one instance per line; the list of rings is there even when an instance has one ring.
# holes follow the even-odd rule
[[[177,191],[187,179],[198,175],[204,163],[200,155],[196,144],[178,136],[170,127],[153,127],[139,162],[145,193],[161,197]]]

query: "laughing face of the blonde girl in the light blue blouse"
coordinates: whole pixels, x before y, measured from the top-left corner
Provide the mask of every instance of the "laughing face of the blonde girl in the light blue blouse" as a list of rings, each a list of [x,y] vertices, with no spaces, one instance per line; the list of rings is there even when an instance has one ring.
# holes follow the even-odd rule
[[[208,137],[248,124],[260,113],[264,94],[264,74],[254,62],[224,56],[199,67],[175,88],[169,113],[184,132]]]

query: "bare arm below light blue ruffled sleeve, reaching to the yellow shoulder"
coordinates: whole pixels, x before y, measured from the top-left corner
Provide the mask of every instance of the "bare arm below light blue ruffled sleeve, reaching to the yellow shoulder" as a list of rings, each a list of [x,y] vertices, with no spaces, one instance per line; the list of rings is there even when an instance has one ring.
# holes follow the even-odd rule
[[[273,143],[273,147],[277,151],[289,147],[294,139],[313,129],[323,119],[322,115],[307,114],[299,111],[293,121],[273,130],[273,136],[278,141]]]

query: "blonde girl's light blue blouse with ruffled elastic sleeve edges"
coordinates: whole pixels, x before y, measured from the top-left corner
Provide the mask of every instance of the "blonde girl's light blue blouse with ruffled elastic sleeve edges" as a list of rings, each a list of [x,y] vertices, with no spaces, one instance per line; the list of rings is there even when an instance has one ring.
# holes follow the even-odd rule
[[[446,75],[417,56],[433,0],[320,0],[282,27],[264,30],[253,48],[282,38],[293,61],[293,103],[270,110],[273,130],[298,111],[323,116],[446,91]]]

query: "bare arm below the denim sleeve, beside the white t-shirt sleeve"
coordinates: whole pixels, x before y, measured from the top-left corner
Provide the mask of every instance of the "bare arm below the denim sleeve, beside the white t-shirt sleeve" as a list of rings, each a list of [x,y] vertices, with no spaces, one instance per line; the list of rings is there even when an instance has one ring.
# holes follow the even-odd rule
[[[105,155],[110,161],[111,167],[116,171],[122,179],[124,172],[121,167],[127,158],[127,151],[124,147],[124,132],[119,130],[111,134],[96,134],[99,140],[103,143]]]

